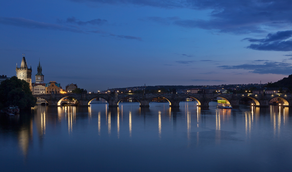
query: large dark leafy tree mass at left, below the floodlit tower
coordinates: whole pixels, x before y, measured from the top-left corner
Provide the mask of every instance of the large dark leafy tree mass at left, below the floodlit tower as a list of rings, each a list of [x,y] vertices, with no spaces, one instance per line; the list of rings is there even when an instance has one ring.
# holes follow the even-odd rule
[[[0,83],[0,108],[9,105],[18,106],[20,109],[29,109],[36,105],[36,98],[32,95],[29,83],[16,76]]]

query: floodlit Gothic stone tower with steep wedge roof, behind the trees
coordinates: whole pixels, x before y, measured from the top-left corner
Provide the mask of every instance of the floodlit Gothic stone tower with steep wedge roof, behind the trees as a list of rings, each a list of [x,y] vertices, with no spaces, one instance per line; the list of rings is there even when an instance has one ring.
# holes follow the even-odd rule
[[[32,67],[28,69],[25,57],[22,57],[20,68],[16,64],[16,76],[18,79],[25,80],[29,83],[30,89],[32,89]]]

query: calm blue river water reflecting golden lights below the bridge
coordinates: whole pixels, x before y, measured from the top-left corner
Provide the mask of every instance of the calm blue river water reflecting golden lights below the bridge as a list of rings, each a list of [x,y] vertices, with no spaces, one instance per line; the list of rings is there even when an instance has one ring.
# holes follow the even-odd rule
[[[210,102],[0,115],[0,171],[291,171],[292,110]]]

